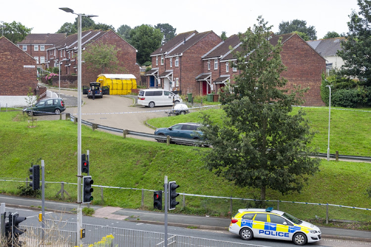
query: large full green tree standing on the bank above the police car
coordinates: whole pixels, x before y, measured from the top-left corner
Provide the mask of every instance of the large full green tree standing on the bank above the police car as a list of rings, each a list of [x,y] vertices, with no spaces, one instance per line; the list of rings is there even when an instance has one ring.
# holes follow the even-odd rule
[[[259,16],[253,30],[239,34],[241,51],[233,53],[241,74],[221,93],[224,123],[214,124],[204,116],[201,127],[213,145],[204,158],[207,167],[237,186],[260,189],[263,201],[267,188],[300,192],[320,163],[309,157],[313,150],[307,144],[314,133],[305,113],[292,114],[291,105],[301,102],[297,95],[304,90],[282,89],[282,44],[268,41],[271,27]]]

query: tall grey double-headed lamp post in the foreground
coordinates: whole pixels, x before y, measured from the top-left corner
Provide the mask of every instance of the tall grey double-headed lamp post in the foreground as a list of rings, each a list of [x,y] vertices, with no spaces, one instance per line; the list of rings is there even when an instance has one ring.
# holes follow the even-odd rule
[[[83,14],[77,14],[70,8],[59,8],[67,13],[76,14],[78,16],[77,27],[77,227],[76,227],[76,244],[82,245],[82,238],[80,231],[83,228],[83,211],[81,208],[81,19]],[[87,17],[94,17],[97,15],[84,15]]]

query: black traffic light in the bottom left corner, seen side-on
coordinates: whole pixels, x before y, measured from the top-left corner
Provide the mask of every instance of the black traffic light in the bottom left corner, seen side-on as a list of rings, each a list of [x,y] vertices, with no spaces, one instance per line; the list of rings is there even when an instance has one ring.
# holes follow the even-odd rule
[[[8,246],[22,246],[22,242],[18,242],[19,235],[26,232],[26,229],[19,229],[19,223],[26,220],[26,217],[20,217],[18,213],[9,212],[9,222],[5,223],[5,237],[8,241]]]

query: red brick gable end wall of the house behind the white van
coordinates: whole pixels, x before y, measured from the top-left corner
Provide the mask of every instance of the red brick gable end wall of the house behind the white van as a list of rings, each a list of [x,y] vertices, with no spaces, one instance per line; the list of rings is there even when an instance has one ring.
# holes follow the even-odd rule
[[[196,76],[203,72],[203,61],[201,56],[221,41],[222,39],[218,35],[211,32],[183,53],[179,61],[182,74],[180,75],[180,69],[177,70],[177,72],[174,70],[174,78],[179,77],[179,90],[182,90],[182,94],[189,92],[198,95],[201,93],[201,83],[197,82],[195,79]]]

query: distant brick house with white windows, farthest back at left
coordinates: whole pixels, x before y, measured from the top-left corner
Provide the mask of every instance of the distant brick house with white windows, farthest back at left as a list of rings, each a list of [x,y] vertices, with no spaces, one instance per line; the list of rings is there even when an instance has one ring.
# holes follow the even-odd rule
[[[46,50],[66,37],[66,34],[29,34],[23,41],[18,42],[17,45],[35,58],[39,62],[38,68],[41,68],[46,61]]]

